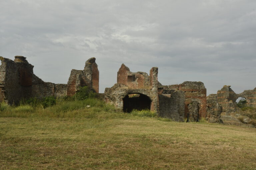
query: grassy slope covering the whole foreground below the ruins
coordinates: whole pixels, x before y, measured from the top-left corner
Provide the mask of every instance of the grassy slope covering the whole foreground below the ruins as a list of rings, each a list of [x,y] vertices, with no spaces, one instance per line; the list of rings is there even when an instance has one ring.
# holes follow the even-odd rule
[[[256,169],[255,128],[67,105],[2,111],[0,169]]]

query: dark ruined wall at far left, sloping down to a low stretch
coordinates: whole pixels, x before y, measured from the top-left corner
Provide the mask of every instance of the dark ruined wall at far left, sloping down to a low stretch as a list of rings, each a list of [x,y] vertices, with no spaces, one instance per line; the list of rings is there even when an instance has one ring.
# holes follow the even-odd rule
[[[4,85],[5,100],[8,104],[18,104],[23,98],[60,97],[67,94],[66,84],[44,82],[33,74],[33,65],[26,57],[15,56],[14,61],[0,57],[0,84]]]

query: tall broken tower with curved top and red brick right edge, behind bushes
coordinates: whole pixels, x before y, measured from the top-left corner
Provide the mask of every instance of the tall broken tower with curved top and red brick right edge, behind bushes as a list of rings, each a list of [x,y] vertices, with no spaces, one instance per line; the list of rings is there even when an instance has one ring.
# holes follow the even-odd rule
[[[88,86],[96,93],[99,93],[99,70],[94,57],[85,62],[84,70],[71,70],[67,85],[67,95],[74,95],[80,86]]]

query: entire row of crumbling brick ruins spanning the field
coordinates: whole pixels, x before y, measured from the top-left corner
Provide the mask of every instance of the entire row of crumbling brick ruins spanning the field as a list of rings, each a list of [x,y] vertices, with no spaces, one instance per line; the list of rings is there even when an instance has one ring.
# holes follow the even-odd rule
[[[99,70],[95,58],[88,59],[83,70],[71,70],[67,84],[44,82],[33,73],[33,65],[26,57],[15,56],[14,61],[0,57],[0,86],[4,86],[4,99],[8,104],[18,104],[23,98],[46,96],[72,96],[80,86],[88,86],[99,93]],[[202,82],[185,81],[176,85],[158,82],[158,68],[145,72],[131,72],[124,64],[117,72],[117,83],[102,94],[107,103],[117,109],[131,112],[133,109],[149,109],[160,117],[184,121],[187,116],[196,121],[206,118],[221,123],[221,115],[236,111],[236,100],[246,99],[247,106],[256,107],[256,88],[236,94],[230,86],[224,86],[217,94],[206,96]]]

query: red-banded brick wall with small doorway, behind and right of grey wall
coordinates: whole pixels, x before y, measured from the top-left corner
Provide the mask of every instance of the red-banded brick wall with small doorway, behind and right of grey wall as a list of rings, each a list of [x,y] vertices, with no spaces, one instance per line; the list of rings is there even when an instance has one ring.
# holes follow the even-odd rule
[[[190,117],[194,120],[197,119],[197,110],[199,112],[199,117],[206,117],[206,88],[202,82],[191,82],[185,81],[182,84],[175,84],[169,86],[163,86],[159,83],[159,88],[163,90],[181,90],[184,91],[185,95],[185,118],[187,114],[190,113]],[[197,102],[197,103],[196,103]]]

